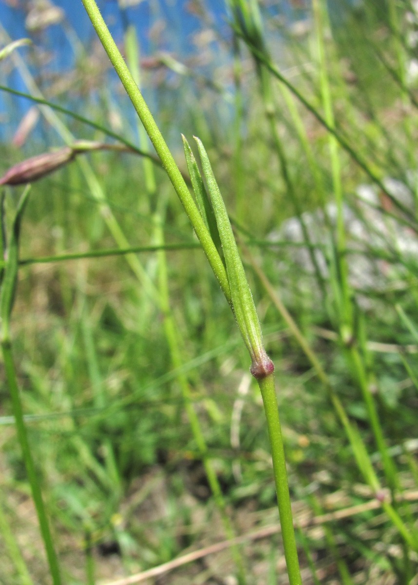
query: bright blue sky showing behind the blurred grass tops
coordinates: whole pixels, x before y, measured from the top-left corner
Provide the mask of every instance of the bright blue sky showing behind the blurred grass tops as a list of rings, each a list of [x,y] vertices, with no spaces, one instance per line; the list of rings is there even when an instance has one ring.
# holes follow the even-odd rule
[[[32,47],[19,49],[19,54],[27,66],[29,66],[34,77],[43,80],[44,87],[54,78],[65,75],[74,66],[74,49],[77,43],[84,47],[90,47],[96,39],[96,33],[88,19],[81,0],[54,0],[54,5],[63,9],[64,21],[58,25],[52,25],[41,32],[30,33],[25,29],[26,12],[23,0],[0,0],[0,23],[12,40],[22,37],[30,37]],[[225,0],[207,0],[202,2],[208,12],[210,27],[215,27],[220,37],[227,39],[231,31],[227,25],[226,2]],[[109,26],[110,32],[119,46],[122,46],[123,27],[126,23],[136,26],[137,35],[140,41],[141,57],[151,56],[156,50],[165,50],[174,54],[179,60],[192,57],[196,52],[193,42],[193,33],[208,26],[202,23],[190,9],[191,0],[142,0],[136,5],[121,11],[117,0],[98,0],[103,18]],[[199,2],[196,2],[199,5]],[[20,8],[19,8],[20,6]],[[295,9],[298,4],[292,4],[290,0],[284,0],[277,4],[283,15],[288,20],[300,18],[303,11]],[[158,37],[158,46],[150,39],[150,30],[160,20],[164,22],[164,31]],[[32,57],[34,54],[44,54],[42,70],[36,70]],[[32,65],[31,65],[32,63]],[[39,59],[37,61],[39,63]],[[216,65],[222,63],[216,63]],[[32,67],[32,68],[31,68]],[[4,74],[4,71],[7,74]],[[211,71],[201,73],[211,75]],[[109,87],[112,85],[112,75],[108,75]],[[45,82],[46,80],[46,82]],[[22,92],[27,92],[25,83],[16,70],[11,70],[10,64],[0,63],[0,85],[7,85]],[[148,98],[148,96],[147,96]],[[54,98],[53,98],[54,101]],[[65,94],[60,95],[60,104],[65,104]],[[27,99],[11,98],[5,92],[0,91],[0,141],[9,140],[19,120],[32,105]],[[77,109],[79,104],[69,103],[68,107]]]

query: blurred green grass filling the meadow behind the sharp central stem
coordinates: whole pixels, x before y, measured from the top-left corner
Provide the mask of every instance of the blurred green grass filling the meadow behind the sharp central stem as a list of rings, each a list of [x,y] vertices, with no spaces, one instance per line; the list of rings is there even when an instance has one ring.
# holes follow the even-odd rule
[[[416,171],[411,166],[416,159],[417,112],[412,101],[416,84],[408,81],[406,91],[402,75],[396,82],[381,57],[395,71],[405,74],[414,48],[403,39],[407,29],[416,29],[417,21],[408,21],[403,7],[395,6],[394,24],[390,5],[365,2],[325,35],[330,90],[338,131],[369,161],[377,176],[402,181],[416,201]],[[405,9],[408,8],[406,3]],[[269,19],[267,9],[262,10],[262,15],[265,39],[272,47],[270,54],[276,54],[279,31],[286,39],[281,44],[285,51],[278,53],[280,70],[292,75],[292,83],[322,111],[312,19],[303,36],[298,37],[294,31],[289,32],[289,27],[285,30],[278,19]],[[224,51],[225,62],[230,66],[225,73],[213,63],[213,79],[220,78],[220,84],[232,92],[232,61],[226,59],[230,47],[223,39],[217,38],[214,43],[217,51]],[[202,59],[207,56],[205,44],[198,50]],[[399,54],[405,62],[399,62]],[[193,71],[193,62],[191,65]],[[310,270],[306,274],[306,267],[298,263],[295,246],[272,242],[272,232],[277,233],[285,220],[295,215],[295,206],[264,115],[257,72],[250,51],[242,43],[240,65],[240,82],[233,92],[241,92],[242,112],[232,109],[223,92],[213,91],[202,82],[198,67],[190,77],[176,77],[174,90],[165,70],[164,74],[158,70],[160,77],[153,70],[144,70],[142,83],[157,92],[158,122],[171,144],[177,144],[181,168],[185,163],[180,132],[199,135],[205,142],[227,208],[236,219],[237,233],[315,349],[350,421],[360,429],[379,480],[388,487],[357,373],[347,357],[350,346],[344,345],[338,329],[341,315],[333,296],[338,274],[332,270],[327,274],[324,298]],[[313,212],[333,202],[329,137],[317,120],[295,102],[312,151],[312,167],[279,85],[272,83],[274,123],[284,146],[295,197],[302,214]],[[134,140],[129,116],[125,118],[123,109],[118,107],[117,92],[111,95],[100,86],[97,91],[101,106],[95,105],[94,100],[89,103],[88,96],[84,96],[84,116],[111,126],[119,114],[122,126],[118,132]],[[53,95],[47,97],[54,101]],[[229,123],[224,123],[225,119]],[[56,137],[51,136],[47,124],[41,123],[48,146],[55,146]],[[105,138],[98,130],[77,121],[69,126],[77,137]],[[41,146],[43,150],[39,140],[29,137],[24,152],[38,153]],[[4,170],[22,160],[22,152],[11,145],[2,145],[2,153]],[[340,150],[338,156],[344,201],[355,208],[357,187],[369,183],[369,179],[346,153]],[[170,244],[193,239],[163,171],[156,168],[156,194],[150,197],[140,159],[94,153],[88,160],[130,245],[153,243],[151,217],[157,200],[167,204],[165,241]],[[9,213],[14,203],[15,196],[8,192]],[[386,223],[391,214],[399,215],[399,211],[393,205],[384,207]],[[417,225],[414,204],[407,219]],[[369,220],[363,220],[365,230],[371,232],[365,221]],[[396,229],[395,226],[395,232]],[[333,226],[324,228],[323,233],[320,243],[332,250]],[[350,241],[349,234],[347,237],[349,248],[355,239]],[[383,237],[388,240],[386,252],[393,252],[382,275],[384,287],[350,291],[355,315],[352,343],[364,363],[385,440],[396,462],[397,481],[402,487],[399,493],[408,494],[416,492],[418,479],[413,442],[417,431],[417,362],[414,348],[410,348],[412,353],[405,349],[417,343],[416,263],[400,247],[392,250],[388,235]],[[411,230],[410,239],[414,238],[416,234]],[[23,219],[22,259],[112,247],[116,245],[103,211],[92,197],[77,161],[33,184]],[[364,255],[375,261],[377,251],[370,249]],[[155,284],[156,254],[141,253],[137,259]],[[330,266],[329,256],[327,259]],[[350,256],[347,259],[350,267]],[[403,270],[400,266],[404,266]],[[272,509],[275,494],[261,399],[251,384],[242,397],[239,422],[234,423],[238,425],[240,445],[232,446],[230,433],[233,412],[239,409],[238,388],[248,375],[246,352],[201,250],[167,252],[167,267],[171,317],[181,339],[182,370],[193,393],[230,518],[237,534],[245,534],[278,521]],[[355,466],[326,388],[249,265],[247,272],[264,324],[268,352],[276,366],[296,522],[303,523],[309,514],[318,516],[329,510],[367,504],[375,494]],[[366,304],[359,301],[362,297],[367,298]],[[402,321],[395,305],[412,321],[411,328]],[[65,581],[94,582],[94,573],[97,582],[107,583],[122,574],[167,562],[188,547],[197,549],[224,538],[203,472],[202,456],[185,416],[178,371],[172,369],[163,316],[156,298],[124,257],[22,266],[12,334],[28,415],[27,429]],[[371,342],[387,345],[373,346]],[[0,504],[33,581],[47,583],[46,566],[37,559],[40,537],[12,430],[5,384],[0,396],[4,494]],[[409,508],[399,504],[397,510],[416,534],[416,500]],[[321,583],[336,579],[343,583],[414,582],[416,552],[407,548],[381,510],[365,509],[341,519],[336,517],[327,526],[328,534],[312,523],[304,531],[305,538],[300,537],[300,547],[303,543],[310,550]],[[268,574],[272,583],[286,582],[281,558],[274,556],[272,560],[271,548],[274,552],[277,548],[274,539],[272,543],[246,545],[248,583],[266,583]],[[306,552],[306,558],[302,557],[304,583],[315,583],[308,556]],[[2,580],[19,583],[18,569],[7,549],[0,558]],[[224,576],[234,572],[230,555],[208,559],[201,565],[169,573],[160,582],[226,582]],[[91,566],[93,569],[88,568]]]

